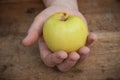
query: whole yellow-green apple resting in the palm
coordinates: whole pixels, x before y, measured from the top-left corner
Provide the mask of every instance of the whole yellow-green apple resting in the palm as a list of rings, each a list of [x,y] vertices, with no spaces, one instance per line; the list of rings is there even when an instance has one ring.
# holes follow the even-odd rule
[[[50,16],[43,26],[43,38],[52,51],[77,51],[86,43],[87,24],[78,16],[57,12]]]

